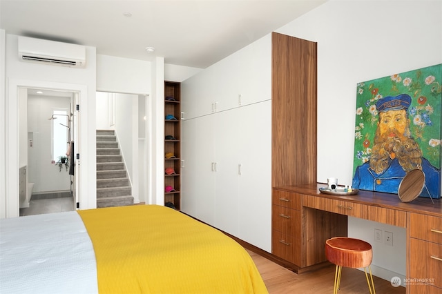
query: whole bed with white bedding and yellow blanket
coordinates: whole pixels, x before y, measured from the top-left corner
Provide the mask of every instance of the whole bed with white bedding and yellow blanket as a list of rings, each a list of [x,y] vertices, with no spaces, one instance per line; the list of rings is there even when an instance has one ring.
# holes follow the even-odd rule
[[[172,208],[0,220],[0,293],[267,293],[230,237]]]

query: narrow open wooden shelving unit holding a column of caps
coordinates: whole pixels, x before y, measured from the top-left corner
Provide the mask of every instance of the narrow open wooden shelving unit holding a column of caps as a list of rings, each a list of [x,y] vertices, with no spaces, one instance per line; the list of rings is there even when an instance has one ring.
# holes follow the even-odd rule
[[[164,204],[180,210],[181,85],[164,82]]]

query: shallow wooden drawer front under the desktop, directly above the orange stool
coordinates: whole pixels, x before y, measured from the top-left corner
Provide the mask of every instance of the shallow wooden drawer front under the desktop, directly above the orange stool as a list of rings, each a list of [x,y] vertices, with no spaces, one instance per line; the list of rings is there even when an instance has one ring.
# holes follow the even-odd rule
[[[302,205],[331,213],[339,213],[340,215],[367,218],[367,206],[363,204],[305,195],[302,199]]]

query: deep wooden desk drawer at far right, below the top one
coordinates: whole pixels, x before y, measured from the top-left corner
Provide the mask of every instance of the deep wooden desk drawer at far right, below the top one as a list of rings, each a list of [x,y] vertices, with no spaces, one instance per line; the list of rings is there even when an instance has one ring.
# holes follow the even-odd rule
[[[442,288],[442,245],[410,238],[410,278]],[[410,282],[414,282],[411,280]]]

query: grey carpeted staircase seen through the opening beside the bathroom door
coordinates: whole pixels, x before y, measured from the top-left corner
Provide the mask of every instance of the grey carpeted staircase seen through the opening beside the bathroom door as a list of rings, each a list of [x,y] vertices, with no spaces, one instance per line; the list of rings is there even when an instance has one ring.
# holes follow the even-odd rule
[[[97,208],[133,205],[114,130],[97,130]]]

